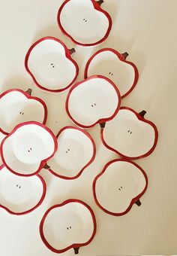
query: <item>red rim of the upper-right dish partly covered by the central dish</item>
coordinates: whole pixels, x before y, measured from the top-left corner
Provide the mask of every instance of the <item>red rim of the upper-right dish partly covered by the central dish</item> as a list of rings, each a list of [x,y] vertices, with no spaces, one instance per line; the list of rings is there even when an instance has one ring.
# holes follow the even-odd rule
[[[113,49],[113,48],[103,48],[101,50],[98,50],[96,53],[94,53],[90,59],[88,60],[88,62],[86,62],[86,68],[85,68],[85,72],[84,72],[84,77],[85,78],[88,78],[88,70],[89,70],[89,65],[90,63],[92,62],[92,60],[95,58],[95,56],[98,55],[98,53],[101,53],[103,51],[111,51],[113,52],[116,56],[118,56],[118,59],[120,59],[122,62],[125,62],[127,64],[129,64],[130,66],[133,67],[134,69],[134,81],[133,81],[133,84],[132,86],[130,87],[130,90],[127,91],[127,93],[124,93],[122,96],[121,96],[121,99],[123,99],[124,97],[126,97],[128,94],[130,94],[132,92],[132,90],[134,89],[134,87],[136,86],[137,84],[137,81],[138,81],[138,78],[139,78],[139,72],[138,72],[138,69],[136,68],[136,66],[133,64],[133,62],[130,62],[130,61],[127,61],[126,59],[124,59],[124,56],[122,56],[121,53],[118,53],[117,50]]]

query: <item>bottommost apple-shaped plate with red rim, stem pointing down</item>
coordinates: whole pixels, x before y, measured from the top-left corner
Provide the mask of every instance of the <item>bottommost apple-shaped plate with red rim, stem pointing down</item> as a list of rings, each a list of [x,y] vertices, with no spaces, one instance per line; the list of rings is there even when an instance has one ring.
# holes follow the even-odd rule
[[[80,200],[67,200],[52,206],[40,221],[40,236],[44,244],[55,253],[88,245],[96,233],[95,214]]]

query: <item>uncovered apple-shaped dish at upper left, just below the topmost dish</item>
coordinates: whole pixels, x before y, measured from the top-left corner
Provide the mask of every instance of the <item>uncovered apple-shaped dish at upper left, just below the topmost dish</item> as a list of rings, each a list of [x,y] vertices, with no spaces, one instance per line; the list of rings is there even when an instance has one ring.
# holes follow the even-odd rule
[[[40,89],[61,93],[77,79],[79,68],[71,58],[74,51],[57,38],[41,38],[26,54],[26,70]]]

